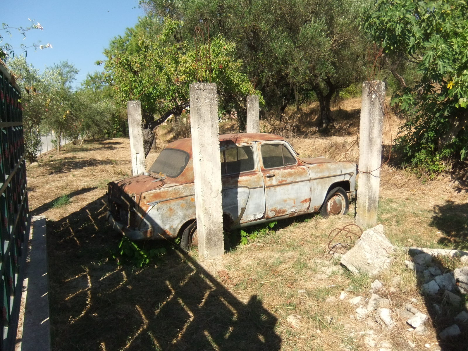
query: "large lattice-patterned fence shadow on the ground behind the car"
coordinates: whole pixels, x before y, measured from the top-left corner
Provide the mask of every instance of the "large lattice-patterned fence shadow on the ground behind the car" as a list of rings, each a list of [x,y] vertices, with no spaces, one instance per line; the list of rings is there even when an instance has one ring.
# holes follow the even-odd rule
[[[255,295],[239,300],[173,245],[158,265],[117,265],[106,212],[101,197],[48,222],[53,350],[280,350]]]

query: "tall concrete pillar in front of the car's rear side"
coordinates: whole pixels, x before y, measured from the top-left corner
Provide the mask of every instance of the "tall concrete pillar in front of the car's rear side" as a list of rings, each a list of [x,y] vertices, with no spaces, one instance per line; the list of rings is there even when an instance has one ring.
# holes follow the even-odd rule
[[[224,254],[221,162],[216,84],[190,85],[190,127],[197,208],[198,252],[204,257]]]

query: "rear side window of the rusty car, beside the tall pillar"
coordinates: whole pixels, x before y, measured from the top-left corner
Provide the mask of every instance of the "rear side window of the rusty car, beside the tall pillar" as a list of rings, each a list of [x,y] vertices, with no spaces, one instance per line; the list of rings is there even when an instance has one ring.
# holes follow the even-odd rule
[[[221,151],[221,175],[247,172],[255,169],[252,146],[230,147]]]

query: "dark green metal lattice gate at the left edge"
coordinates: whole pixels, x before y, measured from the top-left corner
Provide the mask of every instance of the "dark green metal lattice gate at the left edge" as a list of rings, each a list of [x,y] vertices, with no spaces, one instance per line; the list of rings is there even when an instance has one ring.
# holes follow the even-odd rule
[[[29,237],[20,89],[0,63],[0,351],[13,350]]]

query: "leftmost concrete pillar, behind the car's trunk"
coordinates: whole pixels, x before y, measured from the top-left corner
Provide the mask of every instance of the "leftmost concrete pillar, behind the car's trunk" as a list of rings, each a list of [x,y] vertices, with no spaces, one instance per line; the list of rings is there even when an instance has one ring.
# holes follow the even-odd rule
[[[128,132],[130,135],[130,152],[132,158],[132,175],[137,176],[146,171],[146,157],[143,149],[143,130],[141,102],[127,102]]]

